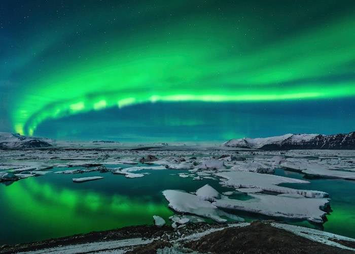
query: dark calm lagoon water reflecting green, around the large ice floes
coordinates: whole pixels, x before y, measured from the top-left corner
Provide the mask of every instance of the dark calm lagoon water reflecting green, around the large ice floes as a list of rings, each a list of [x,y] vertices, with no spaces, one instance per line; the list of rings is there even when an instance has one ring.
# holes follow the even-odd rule
[[[57,170],[66,168],[53,169]],[[47,174],[10,185],[0,184],[0,243],[14,244],[132,225],[153,225],[153,215],[168,221],[173,214],[161,193],[164,189],[194,192],[208,183],[220,193],[233,190],[221,186],[218,180],[195,181],[176,175],[183,172],[187,171],[143,170],[139,173],[150,174],[132,179],[98,172]],[[303,176],[283,170],[276,170],[275,174],[294,178]],[[72,181],[72,178],[97,175],[104,178],[84,183]],[[328,192],[333,211],[327,216],[324,230],[355,238],[355,182],[333,179],[312,179],[310,182],[285,186]],[[248,196],[240,194],[232,198],[245,200]],[[262,218],[256,214],[240,215],[247,220]],[[319,228],[307,221],[288,222]]]

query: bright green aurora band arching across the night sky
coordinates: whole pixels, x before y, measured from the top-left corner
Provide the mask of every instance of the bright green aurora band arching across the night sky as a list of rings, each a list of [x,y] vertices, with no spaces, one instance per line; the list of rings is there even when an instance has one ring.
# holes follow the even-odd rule
[[[253,38],[262,42],[268,29],[246,34],[261,22],[249,19],[236,29],[235,19],[194,15],[168,27],[154,23],[156,29],[91,40],[79,50],[87,60],[30,75],[16,94],[15,131],[32,135],[46,119],[138,103],[355,96],[353,79],[328,79],[349,73],[345,66],[355,59],[354,18],[250,48],[245,45],[254,45]]]

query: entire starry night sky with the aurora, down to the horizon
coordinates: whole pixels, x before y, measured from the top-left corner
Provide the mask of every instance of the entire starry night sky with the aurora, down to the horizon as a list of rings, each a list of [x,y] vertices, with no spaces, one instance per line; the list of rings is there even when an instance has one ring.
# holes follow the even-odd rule
[[[0,131],[224,141],[355,130],[354,1],[4,0]]]

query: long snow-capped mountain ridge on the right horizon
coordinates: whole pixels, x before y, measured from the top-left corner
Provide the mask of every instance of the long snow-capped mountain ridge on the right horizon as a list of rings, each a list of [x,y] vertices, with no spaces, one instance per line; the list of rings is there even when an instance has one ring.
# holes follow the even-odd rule
[[[286,134],[269,138],[231,139],[223,145],[262,150],[355,149],[355,132],[336,135]]]

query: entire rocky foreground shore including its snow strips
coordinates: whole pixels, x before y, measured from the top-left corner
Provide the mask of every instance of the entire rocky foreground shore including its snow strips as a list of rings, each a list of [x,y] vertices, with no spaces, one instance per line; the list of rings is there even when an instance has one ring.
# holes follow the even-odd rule
[[[136,226],[2,246],[0,253],[353,253],[355,240],[272,221]]]

